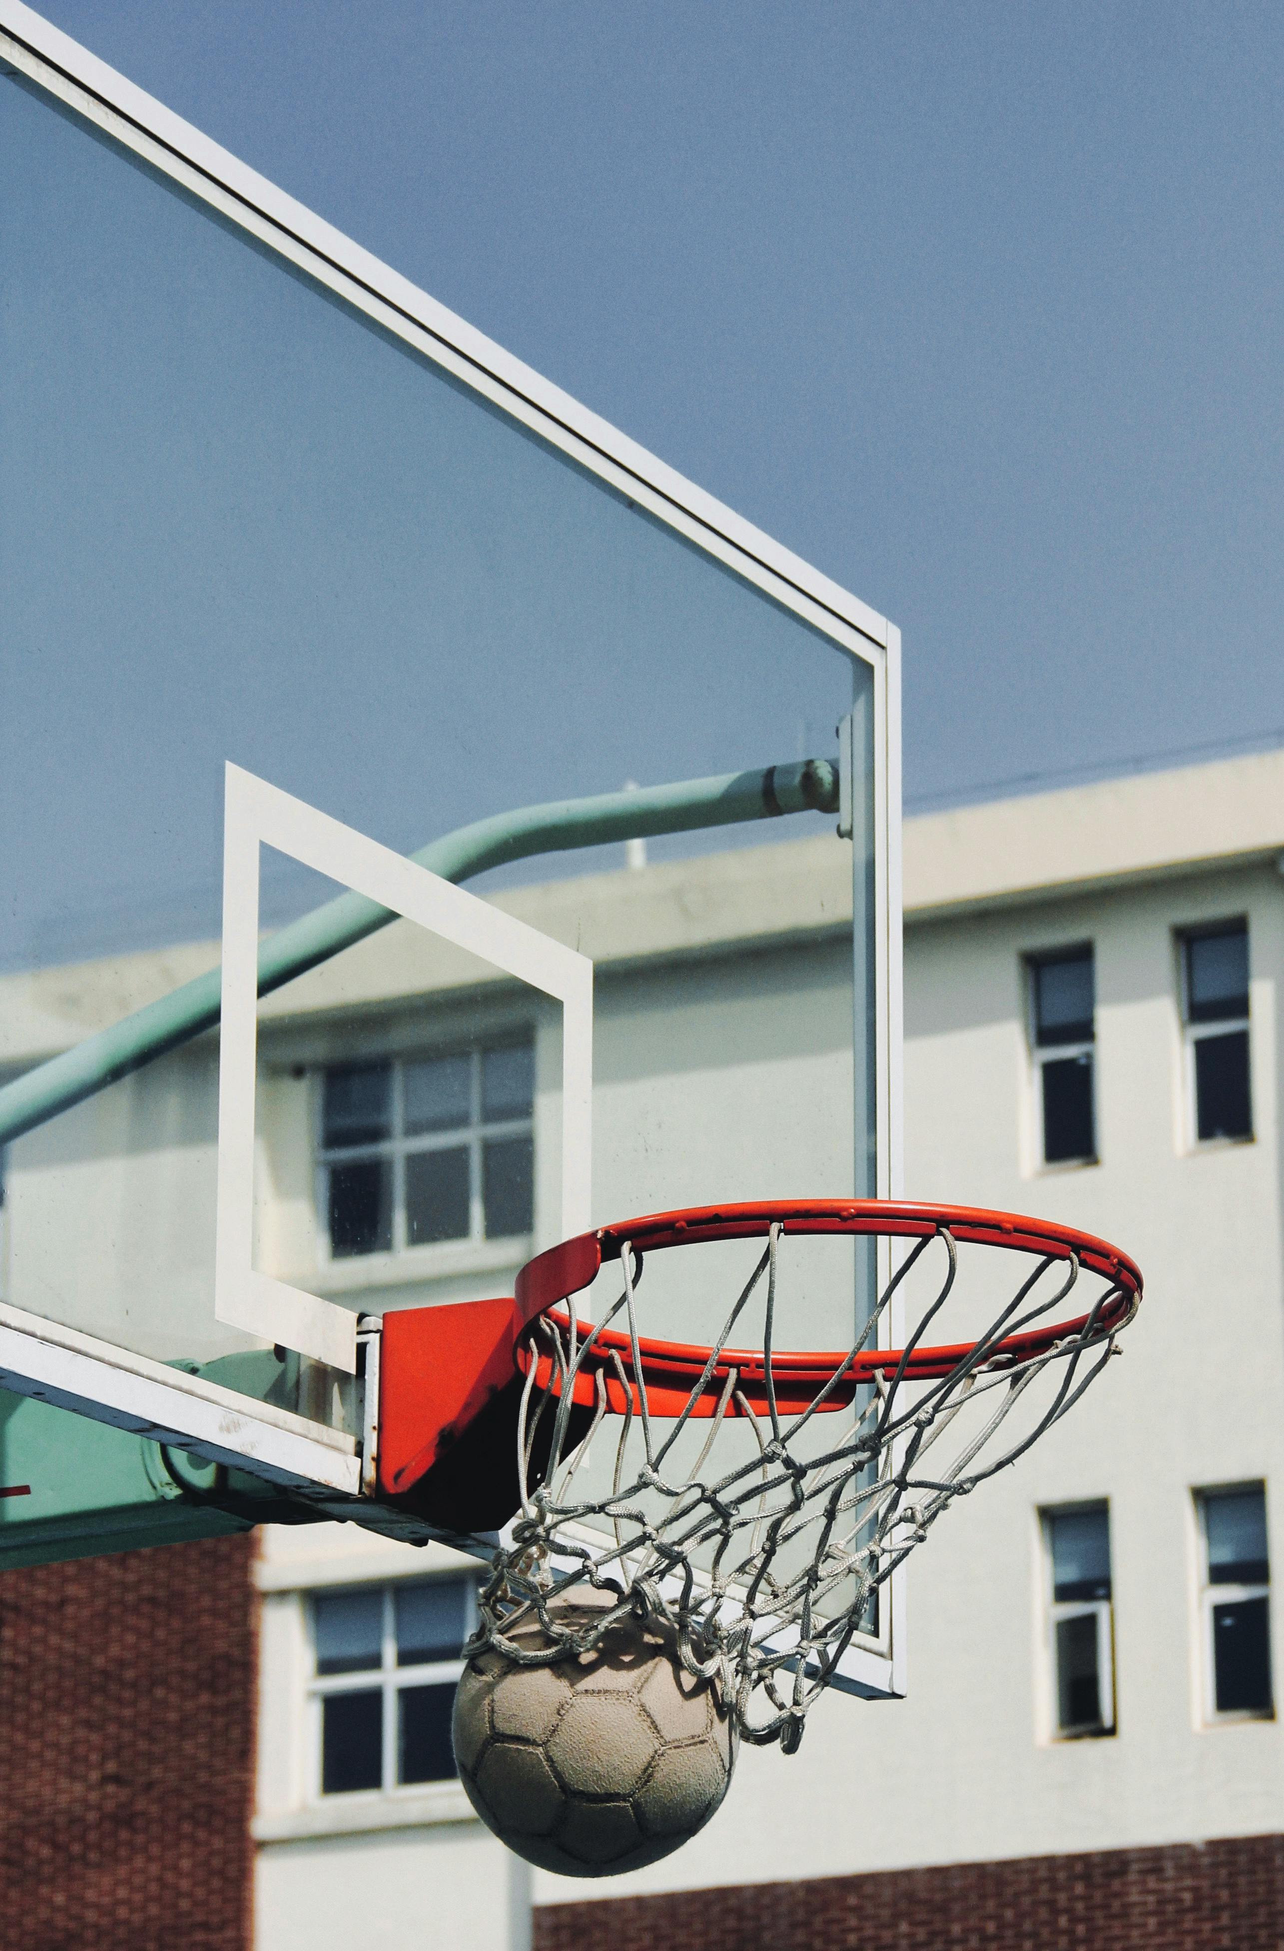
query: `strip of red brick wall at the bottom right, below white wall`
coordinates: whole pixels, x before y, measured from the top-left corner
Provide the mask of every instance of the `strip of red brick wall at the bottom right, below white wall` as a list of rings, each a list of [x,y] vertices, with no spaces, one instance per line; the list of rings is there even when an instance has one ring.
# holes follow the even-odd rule
[[[535,1951],[1280,1951],[1284,1836],[550,1904]]]

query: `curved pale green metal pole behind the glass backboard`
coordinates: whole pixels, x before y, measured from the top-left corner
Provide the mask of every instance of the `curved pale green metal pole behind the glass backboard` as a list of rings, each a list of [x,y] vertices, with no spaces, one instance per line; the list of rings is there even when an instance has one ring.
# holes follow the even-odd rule
[[[771,765],[763,773],[726,773],[677,786],[603,792],[591,800],[554,800],[548,806],[494,814],[447,833],[414,858],[443,880],[461,882],[529,855],[740,825],[781,814],[837,814],[837,767],[825,759],[802,759],[796,765]],[[260,948],[260,995],[328,962],[390,921],[396,921],[390,909],[361,894],[341,894],[291,921]],[[4,1085],[0,1145],[213,1030],[221,1015],[221,985],[222,972],[213,968]]]

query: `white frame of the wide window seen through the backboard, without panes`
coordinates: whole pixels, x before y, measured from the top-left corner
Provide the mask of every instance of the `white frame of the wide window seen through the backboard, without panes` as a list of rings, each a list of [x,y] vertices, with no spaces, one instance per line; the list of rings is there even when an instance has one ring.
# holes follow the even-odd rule
[[[351,1059],[340,1059],[332,1063],[318,1063],[312,1073],[312,1206],[316,1215],[316,1253],[318,1262],[326,1272],[336,1268],[382,1268],[390,1264],[404,1264],[410,1260],[418,1264],[420,1260],[433,1260],[439,1256],[459,1254],[461,1251],[478,1251],[494,1247],[496,1243],[515,1243],[525,1247],[535,1235],[535,1083],[531,1085],[531,1110],[519,1118],[486,1118],[482,1110],[482,1059],[490,1052],[498,1050],[531,1050],[531,1067],[535,1071],[537,1061],[537,1040],[535,1028],[531,1026],[527,1034],[507,1034],[494,1038],[464,1040],[459,1044],[443,1044],[439,1048],[412,1048],[412,1050],[371,1050],[353,1054]],[[443,1132],[421,1132],[416,1135],[406,1135],[406,1065],[431,1063],[439,1057],[468,1057],[470,1059],[470,1083],[468,1083],[468,1122],[462,1126],[451,1126]],[[375,1139],[365,1145],[326,1145],[326,1077],[332,1071],[341,1071],[349,1067],[386,1063],[392,1073],[392,1130],[384,1139]],[[531,1184],[531,1227],[525,1233],[486,1233],[486,1206],[484,1206],[484,1147],[490,1139],[503,1137],[529,1137],[533,1155],[533,1184]],[[468,1231],[459,1233],[451,1239],[437,1241],[418,1241],[410,1243],[406,1237],[406,1159],[427,1151],[461,1151],[468,1149]],[[377,1247],[371,1253],[336,1253],[334,1241],[330,1237],[330,1169],[334,1165],[361,1163],[373,1159],[386,1159],[392,1167],[392,1214],[390,1214],[390,1245]]]

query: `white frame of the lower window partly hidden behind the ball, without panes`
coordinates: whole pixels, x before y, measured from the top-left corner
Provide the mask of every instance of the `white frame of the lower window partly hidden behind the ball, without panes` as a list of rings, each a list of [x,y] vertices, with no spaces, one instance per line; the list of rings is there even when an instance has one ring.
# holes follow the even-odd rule
[[[441,1775],[437,1781],[398,1781],[398,1693],[406,1688],[421,1686],[443,1686],[445,1682],[459,1684],[464,1670],[462,1656],[451,1660],[421,1660],[418,1666],[398,1666],[396,1664],[396,1594],[410,1590],[418,1584],[462,1584],[464,1598],[464,1639],[476,1629],[478,1623],[478,1582],[466,1573],[437,1573],[427,1578],[386,1578],[386,1580],[361,1580],[353,1578],[351,1584],[324,1584],[308,1586],[301,1596],[304,1602],[304,1633],[306,1633],[306,1652],[308,1652],[308,1676],[304,1682],[304,1740],[306,1740],[306,1781],[304,1781],[304,1803],[310,1809],[345,1809],[353,1805],[369,1805],[377,1801],[404,1801],[406,1797],[423,1795],[425,1789],[435,1789],[445,1783],[459,1783],[459,1772],[451,1775]],[[316,1672],[316,1615],[314,1602],[318,1598],[336,1598],[347,1592],[381,1592],[382,1594],[382,1637],[381,1637],[381,1656],[379,1666],[357,1668],[347,1674],[318,1674]],[[324,1789],[324,1701],[334,1693],[375,1693],[381,1695],[381,1772],[382,1781],[377,1789],[336,1789],[326,1793]]]

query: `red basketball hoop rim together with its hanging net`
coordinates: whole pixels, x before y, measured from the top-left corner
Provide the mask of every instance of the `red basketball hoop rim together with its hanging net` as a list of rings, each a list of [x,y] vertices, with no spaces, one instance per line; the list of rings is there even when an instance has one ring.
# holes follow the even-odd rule
[[[788,1247],[810,1235],[872,1237],[900,1256],[839,1352],[777,1348]],[[640,1333],[652,1254],[743,1239],[765,1249],[712,1344]],[[1005,1299],[980,1334],[937,1338],[980,1251],[1019,1256]],[[619,1297],[582,1321],[574,1295],[617,1260]],[[1067,1311],[1083,1282],[1085,1305]],[[1142,1274],[1104,1241],[962,1206],[706,1206],[564,1241],[517,1280],[521,1512],[468,1651],[550,1664],[650,1619],[745,1740],[792,1752],[851,1643],[878,1637],[896,1567],[1079,1401],[1140,1299]],[[734,1346],[755,1319],[757,1344]],[[605,1430],[609,1483],[589,1467]],[[589,1588],[609,1604],[576,1606]]]

